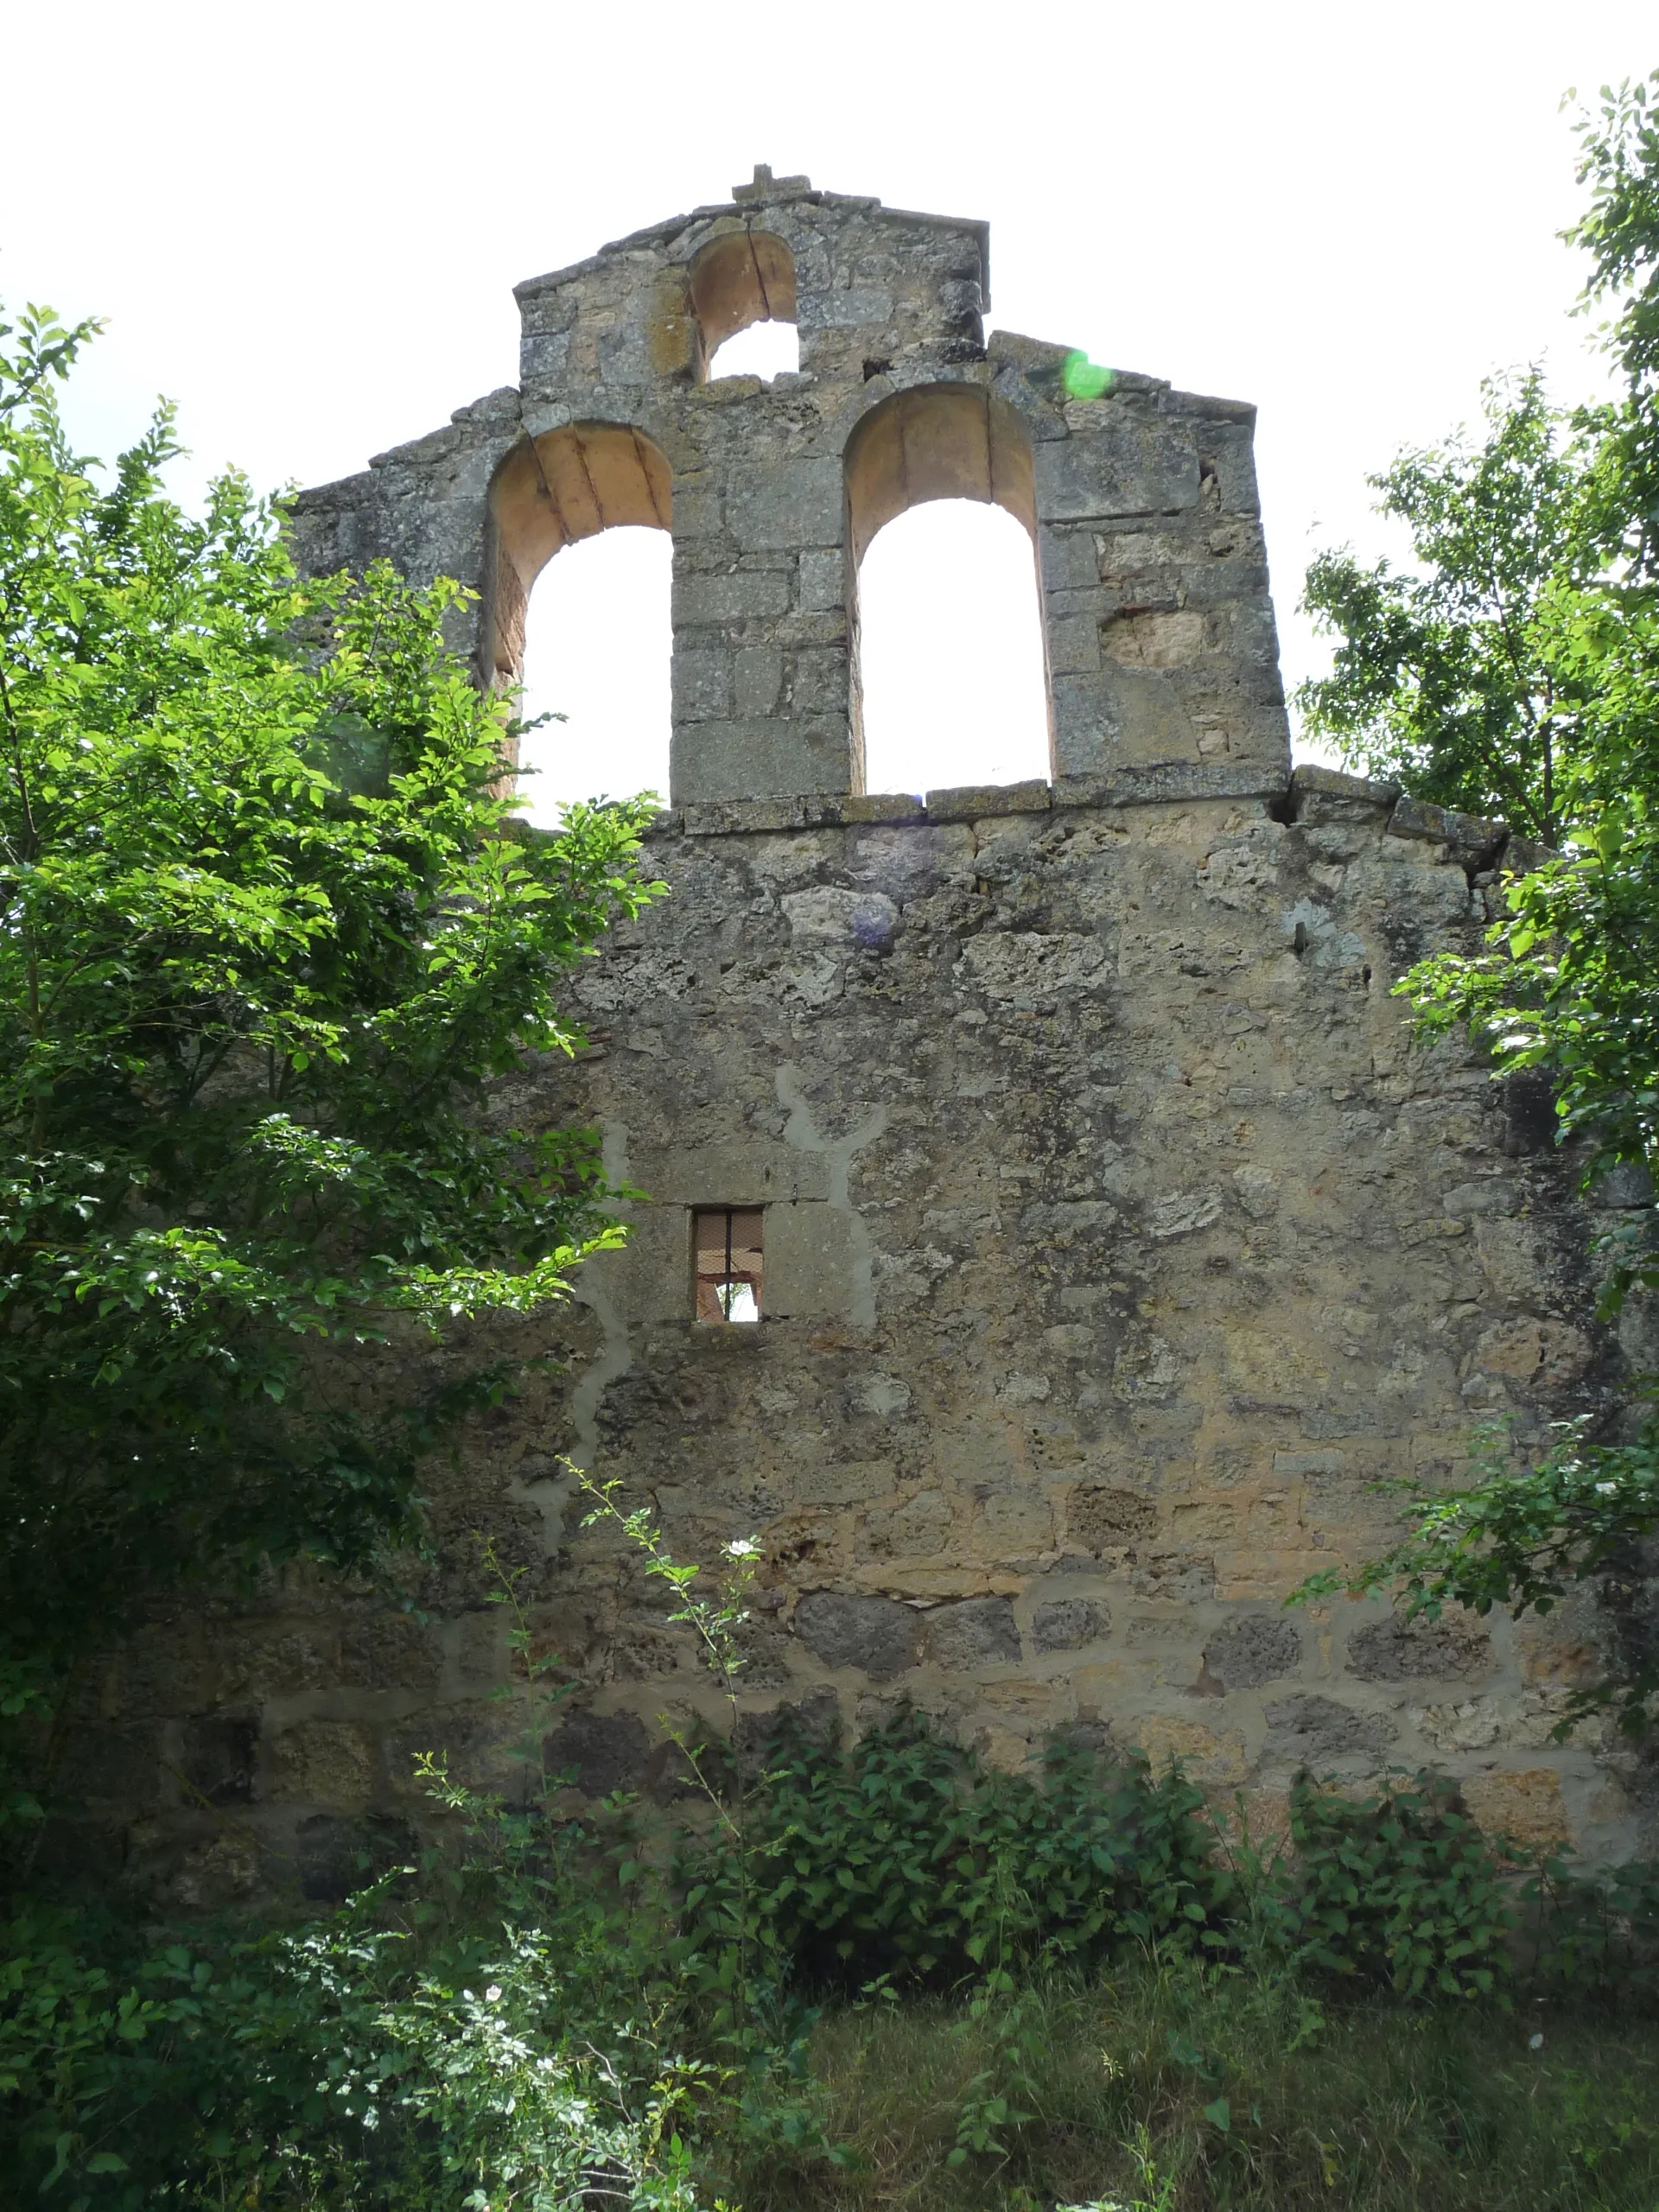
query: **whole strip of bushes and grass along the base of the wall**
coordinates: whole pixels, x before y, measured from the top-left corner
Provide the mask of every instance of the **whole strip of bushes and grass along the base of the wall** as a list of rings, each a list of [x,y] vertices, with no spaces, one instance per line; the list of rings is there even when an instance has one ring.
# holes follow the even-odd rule
[[[1650,2212],[1659,1874],[1528,1867],[1433,1778],[1305,1781],[1267,1851],[1179,1774],[1073,1745],[1022,1783],[916,1714],[774,1759],[741,1929],[695,1834],[670,1860],[646,1807],[555,1818],[540,1781],[449,1785],[422,1863],[323,1918],[35,1898],[15,2201]]]

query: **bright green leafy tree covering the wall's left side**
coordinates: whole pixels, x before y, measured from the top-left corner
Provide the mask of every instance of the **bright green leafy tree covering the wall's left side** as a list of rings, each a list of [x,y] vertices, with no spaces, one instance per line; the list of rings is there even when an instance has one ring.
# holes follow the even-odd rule
[[[619,1234],[591,1137],[491,1084],[580,1042],[566,971],[657,889],[644,803],[515,818],[456,586],[296,577],[239,476],[188,518],[166,409],[100,480],[86,336],[0,325],[11,1710],[181,1577],[418,1535],[422,1449],[507,1374],[422,1343]]]

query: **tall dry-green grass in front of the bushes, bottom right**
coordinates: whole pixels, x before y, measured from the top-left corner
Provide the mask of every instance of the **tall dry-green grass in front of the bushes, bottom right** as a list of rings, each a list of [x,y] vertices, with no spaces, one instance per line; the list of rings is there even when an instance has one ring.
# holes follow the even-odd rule
[[[1270,1973],[1155,1958],[1042,1982],[1026,2004],[1040,2062],[1004,2157],[949,2163],[995,2024],[949,2000],[874,2002],[812,2033],[834,2159],[714,2143],[714,2185],[743,2212],[1659,2208],[1650,2020],[1323,2006]]]

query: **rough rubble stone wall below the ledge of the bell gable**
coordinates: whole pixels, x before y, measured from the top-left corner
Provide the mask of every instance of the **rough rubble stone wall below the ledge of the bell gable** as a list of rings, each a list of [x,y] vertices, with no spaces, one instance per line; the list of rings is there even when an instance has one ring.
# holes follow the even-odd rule
[[[1475,942],[1491,830],[1303,772],[672,814],[650,858],[670,896],[582,973],[588,1053],[500,1099],[597,1124],[650,1194],[520,1334],[564,1376],[434,1469],[429,1619],[296,1582],[111,1670],[135,1863],[325,1889],[416,1816],[418,1750],[511,1785],[480,1535],[577,1683],[553,1767],[666,1787],[659,1714],[714,1705],[562,1453],[681,1555],[761,1537],[745,1714],[907,1697],[1009,1763],[1084,1725],[1267,1818],[1303,1763],[1438,1763],[1533,1843],[1632,1849],[1624,1754],[1551,1741],[1606,1624],[1283,1610],[1387,1537],[1378,1480],[1617,1387],[1548,1104],[1389,995]],[[692,1318],[710,1203],[765,1208],[759,1325]]]

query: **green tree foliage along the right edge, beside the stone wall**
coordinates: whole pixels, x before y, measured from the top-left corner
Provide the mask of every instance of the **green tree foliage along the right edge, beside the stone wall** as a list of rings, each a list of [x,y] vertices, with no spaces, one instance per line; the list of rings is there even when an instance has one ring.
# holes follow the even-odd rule
[[[1526,378],[1491,411],[1478,456],[1407,456],[1378,480],[1413,524],[1425,577],[1332,555],[1307,591],[1340,637],[1334,675],[1303,690],[1310,728],[1347,759],[1564,847],[1509,876],[1484,951],[1440,953],[1398,989],[1422,1035],[1467,1029],[1495,1075],[1551,1079],[1586,1186],[1621,1164],[1659,1170],[1657,91],[1659,73],[1604,91],[1579,122],[1590,195],[1568,237],[1593,257],[1582,305],[1615,305],[1617,403],[1564,425]],[[1601,1256],[1608,1312],[1659,1292],[1650,1210],[1626,1214]],[[1347,1586],[1391,1588],[1407,1615],[1548,1613],[1575,1584],[1641,1575],[1657,1467],[1655,1420],[1613,1440],[1573,1429],[1542,1464],[1482,1438],[1473,1480],[1413,1491],[1405,1540]],[[1316,1577],[1298,1597],[1343,1579]],[[1659,1657],[1624,1652],[1568,1725],[1613,1705],[1641,1732],[1655,1692]]]

